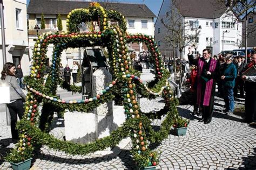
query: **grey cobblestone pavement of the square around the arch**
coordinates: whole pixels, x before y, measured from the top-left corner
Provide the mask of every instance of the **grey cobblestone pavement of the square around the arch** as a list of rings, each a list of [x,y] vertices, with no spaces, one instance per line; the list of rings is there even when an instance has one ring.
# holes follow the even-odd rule
[[[239,107],[244,101],[236,101]],[[144,112],[159,110],[164,107],[163,100],[140,100]],[[171,130],[167,139],[153,148],[161,151],[160,164],[157,169],[255,169],[256,167],[256,129],[242,122],[242,115],[224,115],[224,102],[215,97],[212,122],[199,123],[197,116],[192,116],[193,107],[183,105],[178,107],[179,115],[190,118],[186,136],[176,136]],[[162,120],[153,121],[159,126]],[[64,136],[64,120],[55,117],[52,131],[55,137]],[[5,112],[0,113],[0,139],[5,145],[11,143],[10,126],[6,126]],[[0,153],[14,147],[13,144],[1,148]],[[85,156],[69,155],[61,151],[43,146],[37,151],[31,169],[134,169],[130,153],[131,143],[123,149],[114,147],[113,152],[102,155],[91,153]],[[11,169],[8,162],[0,160],[0,169]]]

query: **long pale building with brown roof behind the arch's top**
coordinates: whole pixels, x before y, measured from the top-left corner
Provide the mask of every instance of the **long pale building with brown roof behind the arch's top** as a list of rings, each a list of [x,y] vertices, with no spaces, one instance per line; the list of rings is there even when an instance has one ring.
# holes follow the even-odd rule
[[[36,30],[34,27],[36,24],[41,25],[41,14],[44,14],[46,23],[45,30],[39,30],[40,33],[55,32],[52,30],[53,25],[57,24],[57,16],[61,15],[63,30],[66,31],[66,16],[73,9],[87,8],[90,2],[76,0],[32,0],[28,5],[28,16],[29,16],[29,47],[32,55],[33,45],[37,38]],[[143,33],[150,36],[154,36],[154,22],[153,19],[156,17],[154,13],[147,8],[144,4],[130,4],[130,3],[102,3],[101,4],[107,10],[116,10],[122,13],[126,18],[127,32],[129,33]],[[141,45],[142,46],[142,45]],[[52,48],[48,47],[47,56],[51,61]],[[133,44],[131,46],[136,51],[139,51],[139,45]],[[83,51],[82,51],[83,55]],[[68,63],[72,66],[73,60],[78,60],[79,50],[68,48],[62,53],[62,64],[63,66]]]

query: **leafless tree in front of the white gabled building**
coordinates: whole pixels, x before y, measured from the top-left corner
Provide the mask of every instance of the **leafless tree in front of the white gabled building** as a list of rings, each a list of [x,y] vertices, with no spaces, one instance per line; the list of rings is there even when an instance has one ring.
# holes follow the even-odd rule
[[[161,18],[161,23],[166,28],[167,32],[164,36],[165,43],[172,47],[172,52],[174,56],[174,49],[178,49],[180,61],[184,48],[191,45],[191,42],[196,38],[188,34],[188,23],[184,22],[184,17],[180,14],[179,9],[176,8],[177,1],[172,1],[170,5],[170,10],[167,11],[167,15]],[[200,32],[200,31],[199,31]],[[198,32],[198,34],[199,34]],[[179,85],[181,87],[181,62],[180,62],[180,81]],[[176,61],[174,60],[174,81],[176,79]]]

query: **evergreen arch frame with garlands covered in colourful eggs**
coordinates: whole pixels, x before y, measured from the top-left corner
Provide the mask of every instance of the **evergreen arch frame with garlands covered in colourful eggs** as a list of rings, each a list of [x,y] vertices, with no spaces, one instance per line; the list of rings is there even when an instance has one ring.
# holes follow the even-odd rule
[[[115,20],[117,25],[110,25]],[[78,25],[91,22],[93,30],[79,32]],[[125,137],[131,137],[133,160],[139,167],[156,165],[158,153],[149,148],[151,143],[159,142],[169,135],[169,131],[178,118],[177,100],[173,98],[169,85],[169,72],[164,69],[160,52],[153,37],[144,34],[126,33],[124,16],[113,10],[106,11],[98,3],[91,3],[87,9],[72,10],[67,19],[68,33],[46,33],[36,40],[30,76],[26,77],[28,95],[25,102],[25,114],[18,122],[21,131],[17,148],[12,151],[14,159],[25,159],[32,156],[35,147],[48,145],[50,148],[69,154],[85,155],[90,152],[104,150],[114,146]],[[154,61],[155,80],[149,83],[140,79],[140,73],[131,66],[127,55],[127,43],[144,42]],[[51,72],[44,77],[46,52],[53,44]],[[109,52],[110,73],[112,81],[97,95],[85,100],[65,101],[57,97],[57,86],[62,84],[58,77],[58,67],[62,51],[68,47],[104,46]],[[78,92],[79,87],[68,86],[68,90]],[[144,113],[140,110],[137,95],[147,98],[163,97],[165,107],[157,112]],[[86,112],[110,100],[118,100],[124,105],[126,122],[110,136],[89,144],[75,144],[70,141],[56,139],[47,131],[42,130],[42,117],[52,117],[55,112],[81,111]],[[42,110],[39,110],[39,105]],[[49,109],[50,108],[50,109]],[[47,110],[47,111],[45,111]],[[165,115],[159,131],[154,131],[151,120]],[[39,128],[38,128],[39,126]]]

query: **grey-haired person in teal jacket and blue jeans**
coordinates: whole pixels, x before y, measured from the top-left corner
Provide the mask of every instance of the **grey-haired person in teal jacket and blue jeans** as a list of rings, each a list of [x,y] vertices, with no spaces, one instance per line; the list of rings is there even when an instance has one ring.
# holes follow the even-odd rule
[[[224,81],[224,112],[226,115],[230,115],[234,112],[233,89],[235,86],[235,78],[237,78],[237,68],[233,64],[232,54],[227,54],[225,60],[224,72],[220,78]]]

